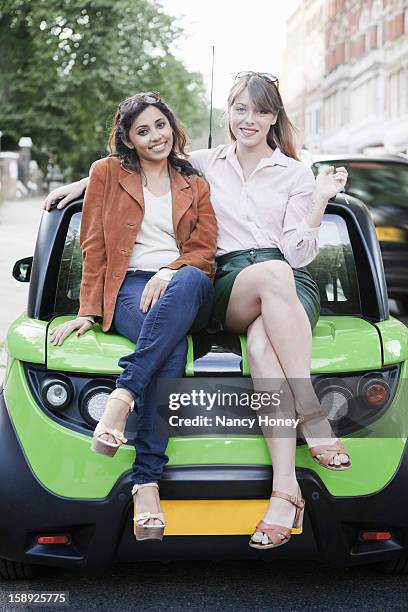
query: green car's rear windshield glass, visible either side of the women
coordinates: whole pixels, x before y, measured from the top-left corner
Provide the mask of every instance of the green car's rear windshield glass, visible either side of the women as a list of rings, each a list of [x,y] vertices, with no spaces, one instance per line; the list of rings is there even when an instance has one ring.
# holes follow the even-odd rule
[[[82,274],[80,223],[81,213],[74,213],[61,258],[55,300],[56,314],[75,314],[79,309]],[[361,314],[354,254],[346,222],[339,215],[324,215],[319,236],[319,252],[308,268],[319,287],[322,315]]]

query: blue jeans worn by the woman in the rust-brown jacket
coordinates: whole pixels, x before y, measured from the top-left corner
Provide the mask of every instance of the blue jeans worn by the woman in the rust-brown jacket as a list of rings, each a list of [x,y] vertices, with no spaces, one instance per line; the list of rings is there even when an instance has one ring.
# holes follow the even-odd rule
[[[119,360],[124,368],[116,386],[132,393],[140,415],[134,441],[133,482],[158,482],[168,461],[168,439],[156,431],[156,387],[160,378],[181,378],[185,372],[187,334],[198,331],[211,314],[214,288],[201,270],[184,266],[158,302],[143,313],[140,297],[154,272],[128,272],[119,290],[113,327],[137,343]]]

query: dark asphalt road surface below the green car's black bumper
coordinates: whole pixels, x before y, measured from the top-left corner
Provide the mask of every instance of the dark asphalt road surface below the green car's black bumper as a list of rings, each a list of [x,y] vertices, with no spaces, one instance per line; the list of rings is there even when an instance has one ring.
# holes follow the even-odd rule
[[[52,570],[32,582],[3,582],[0,589],[69,592],[69,610],[140,612],[406,611],[408,598],[406,576],[382,576],[370,568],[336,570],[306,561],[174,561],[117,565],[92,573]],[[56,608],[44,608],[49,609]]]

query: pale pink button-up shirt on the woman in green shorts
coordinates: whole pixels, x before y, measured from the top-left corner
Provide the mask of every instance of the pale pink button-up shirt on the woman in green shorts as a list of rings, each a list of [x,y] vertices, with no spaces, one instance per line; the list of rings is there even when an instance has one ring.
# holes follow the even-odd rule
[[[292,268],[314,259],[320,227],[309,227],[304,218],[312,206],[315,184],[310,168],[277,147],[245,180],[236,143],[193,151],[189,160],[210,184],[218,256],[278,247]]]

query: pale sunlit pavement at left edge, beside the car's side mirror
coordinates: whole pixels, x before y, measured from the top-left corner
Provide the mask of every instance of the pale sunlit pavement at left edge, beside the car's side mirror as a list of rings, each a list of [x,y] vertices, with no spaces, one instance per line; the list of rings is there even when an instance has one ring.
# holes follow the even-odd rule
[[[12,321],[26,309],[29,283],[11,273],[18,259],[34,254],[43,198],[0,204],[0,382],[6,355],[4,340]]]

